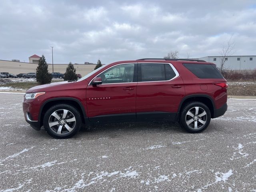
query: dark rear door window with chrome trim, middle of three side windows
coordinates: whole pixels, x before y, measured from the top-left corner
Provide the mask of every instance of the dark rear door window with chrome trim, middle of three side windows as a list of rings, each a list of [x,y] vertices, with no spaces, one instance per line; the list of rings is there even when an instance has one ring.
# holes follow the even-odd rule
[[[176,76],[169,64],[141,63],[141,81],[166,81]]]

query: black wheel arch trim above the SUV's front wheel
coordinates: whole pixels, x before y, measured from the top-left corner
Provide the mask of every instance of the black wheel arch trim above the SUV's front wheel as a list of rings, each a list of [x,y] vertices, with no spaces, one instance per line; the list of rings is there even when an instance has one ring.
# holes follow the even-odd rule
[[[63,102],[65,102],[66,104],[71,104],[72,106],[76,107],[79,110],[80,114],[82,115],[82,122],[83,123],[85,122],[85,118],[87,116],[82,103],[76,98],[62,97],[62,98],[53,98],[53,99],[46,100],[42,104],[42,106],[40,107],[39,116],[38,116],[39,117],[38,119],[40,119],[40,126],[42,126],[42,122],[43,122],[43,118],[46,110],[53,104],[60,104]]]

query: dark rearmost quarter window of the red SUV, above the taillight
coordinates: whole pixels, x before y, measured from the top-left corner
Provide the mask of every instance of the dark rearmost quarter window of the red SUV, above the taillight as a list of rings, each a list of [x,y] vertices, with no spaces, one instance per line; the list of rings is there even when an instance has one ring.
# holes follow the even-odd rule
[[[183,64],[188,70],[200,79],[223,79],[224,77],[220,71],[216,68],[216,65],[212,64]]]

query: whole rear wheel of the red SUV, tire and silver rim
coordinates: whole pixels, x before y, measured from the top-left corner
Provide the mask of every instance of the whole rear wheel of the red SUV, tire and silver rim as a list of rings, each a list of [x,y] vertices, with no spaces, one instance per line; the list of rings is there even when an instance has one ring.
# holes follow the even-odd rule
[[[198,114],[202,114],[202,116],[198,118]],[[210,124],[210,121],[211,112],[202,102],[189,102],[182,108],[180,125],[189,133],[200,133],[204,131]]]

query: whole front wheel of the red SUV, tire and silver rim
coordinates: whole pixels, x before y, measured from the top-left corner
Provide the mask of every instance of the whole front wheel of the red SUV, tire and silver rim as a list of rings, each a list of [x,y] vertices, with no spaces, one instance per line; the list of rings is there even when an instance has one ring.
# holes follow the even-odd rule
[[[62,117],[64,114],[64,110],[66,111],[66,118],[64,118],[63,120]],[[58,116],[56,116],[54,112],[56,112]],[[54,114],[54,116],[52,114]],[[56,117],[61,117],[62,120],[57,120]],[[65,120],[70,120],[70,122],[65,122]],[[68,127],[66,127],[66,125],[64,124],[68,125]],[[57,139],[66,139],[74,136],[74,134],[76,134],[80,130],[81,124],[82,120],[80,112],[72,105],[57,104],[49,108],[44,114],[44,129],[46,130],[46,132],[48,132],[50,136]]]

